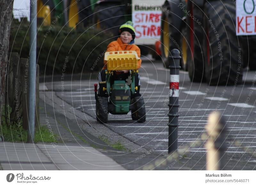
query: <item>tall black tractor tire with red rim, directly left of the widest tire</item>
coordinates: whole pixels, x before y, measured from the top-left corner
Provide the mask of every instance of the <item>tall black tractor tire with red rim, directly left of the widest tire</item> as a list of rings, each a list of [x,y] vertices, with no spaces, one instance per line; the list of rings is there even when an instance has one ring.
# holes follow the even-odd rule
[[[187,4],[187,67],[190,81],[204,81],[204,57],[203,57],[203,17],[204,12],[192,1]],[[192,17],[193,16],[193,17]]]

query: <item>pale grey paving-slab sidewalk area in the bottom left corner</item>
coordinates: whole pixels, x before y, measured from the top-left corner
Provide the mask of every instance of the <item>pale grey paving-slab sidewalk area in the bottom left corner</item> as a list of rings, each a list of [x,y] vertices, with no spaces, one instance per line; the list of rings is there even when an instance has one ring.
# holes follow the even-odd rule
[[[88,146],[0,143],[1,170],[124,170]]]

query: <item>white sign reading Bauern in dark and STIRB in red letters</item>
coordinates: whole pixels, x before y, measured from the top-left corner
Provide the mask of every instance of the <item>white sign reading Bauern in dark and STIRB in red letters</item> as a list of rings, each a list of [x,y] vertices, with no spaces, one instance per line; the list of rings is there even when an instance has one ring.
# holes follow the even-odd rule
[[[132,22],[136,32],[135,43],[155,44],[160,40],[161,16],[164,0],[133,0]]]

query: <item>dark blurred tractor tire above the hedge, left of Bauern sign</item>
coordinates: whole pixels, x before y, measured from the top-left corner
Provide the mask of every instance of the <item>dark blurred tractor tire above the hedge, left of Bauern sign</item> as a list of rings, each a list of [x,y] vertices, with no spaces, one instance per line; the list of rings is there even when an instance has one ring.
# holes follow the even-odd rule
[[[95,6],[93,23],[96,28],[106,29],[114,35],[118,34],[119,27],[125,22],[125,9],[118,2],[100,3]]]

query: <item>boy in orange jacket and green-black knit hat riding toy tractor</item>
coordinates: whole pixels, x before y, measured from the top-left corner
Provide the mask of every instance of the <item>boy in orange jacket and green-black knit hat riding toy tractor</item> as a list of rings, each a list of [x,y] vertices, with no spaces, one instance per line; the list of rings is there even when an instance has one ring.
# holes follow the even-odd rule
[[[127,21],[121,27],[118,31],[118,38],[116,41],[113,41],[108,44],[107,52],[109,51],[120,51],[120,50],[133,50],[137,52],[138,57],[140,58],[140,49],[138,46],[136,46],[134,43],[135,39],[135,29],[133,28],[132,21]],[[141,59],[138,61],[138,69],[141,65]],[[98,81],[106,81],[106,74],[105,69],[107,66],[107,61],[104,61],[104,67],[102,68],[102,71],[98,74]],[[121,70],[121,71],[114,71],[114,78],[115,80],[126,80],[129,78],[130,71],[129,70]],[[106,92],[103,92],[103,86],[106,86],[105,84],[99,84],[99,94],[100,97],[106,97]],[[135,76],[135,87],[138,87],[137,93],[132,97],[141,96],[140,95],[140,75],[137,74]]]

